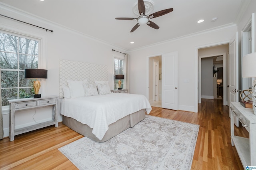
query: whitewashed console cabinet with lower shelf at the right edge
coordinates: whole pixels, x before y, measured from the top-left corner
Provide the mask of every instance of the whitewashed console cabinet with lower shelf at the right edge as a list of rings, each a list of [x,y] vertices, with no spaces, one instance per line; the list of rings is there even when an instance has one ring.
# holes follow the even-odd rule
[[[231,144],[236,147],[236,151],[244,166],[256,166],[256,115],[252,109],[245,108],[238,102],[230,102]],[[249,138],[234,135],[234,117],[238,117],[242,126],[249,132]]]

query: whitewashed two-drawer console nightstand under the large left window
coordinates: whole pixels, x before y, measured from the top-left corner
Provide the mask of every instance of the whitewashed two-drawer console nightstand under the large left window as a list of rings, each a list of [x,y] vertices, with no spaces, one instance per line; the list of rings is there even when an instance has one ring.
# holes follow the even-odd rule
[[[36,130],[50,125],[58,127],[58,96],[47,96],[42,98],[25,98],[8,100],[10,103],[10,123],[9,123],[9,137],[10,141],[14,140],[14,136]],[[35,109],[39,107],[52,106],[52,120],[36,125],[14,129],[15,127],[15,111]],[[16,120],[17,121],[17,120]]]

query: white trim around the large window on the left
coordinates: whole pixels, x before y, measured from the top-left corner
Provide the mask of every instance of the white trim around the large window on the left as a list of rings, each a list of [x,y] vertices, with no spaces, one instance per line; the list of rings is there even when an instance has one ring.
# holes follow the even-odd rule
[[[12,28],[0,27],[0,32],[4,34],[9,34],[13,36],[18,36],[18,37],[38,41],[38,69],[46,69],[46,57],[44,57],[43,55],[44,53],[46,53],[46,49],[43,48],[46,46],[46,41],[44,41],[46,39],[45,37],[39,36],[37,34],[26,33],[23,30],[22,31],[13,30]],[[41,79],[40,82],[41,82],[40,93],[42,95],[46,95],[46,80]],[[9,105],[2,106],[3,115],[9,114],[9,109],[10,109]]]

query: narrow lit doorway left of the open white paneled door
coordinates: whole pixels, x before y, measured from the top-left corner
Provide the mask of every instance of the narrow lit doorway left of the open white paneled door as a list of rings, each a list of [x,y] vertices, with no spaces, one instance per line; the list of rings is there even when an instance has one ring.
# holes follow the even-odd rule
[[[148,99],[151,106],[162,107],[162,56],[149,57]]]

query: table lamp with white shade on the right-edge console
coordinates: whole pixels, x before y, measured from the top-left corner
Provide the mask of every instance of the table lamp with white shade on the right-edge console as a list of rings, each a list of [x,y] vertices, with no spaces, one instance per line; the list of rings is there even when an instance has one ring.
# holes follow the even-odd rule
[[[256,77],[256,53],[242,57],[242,77]],[[252,83],[252,109],[256,115],[256,80]]]

